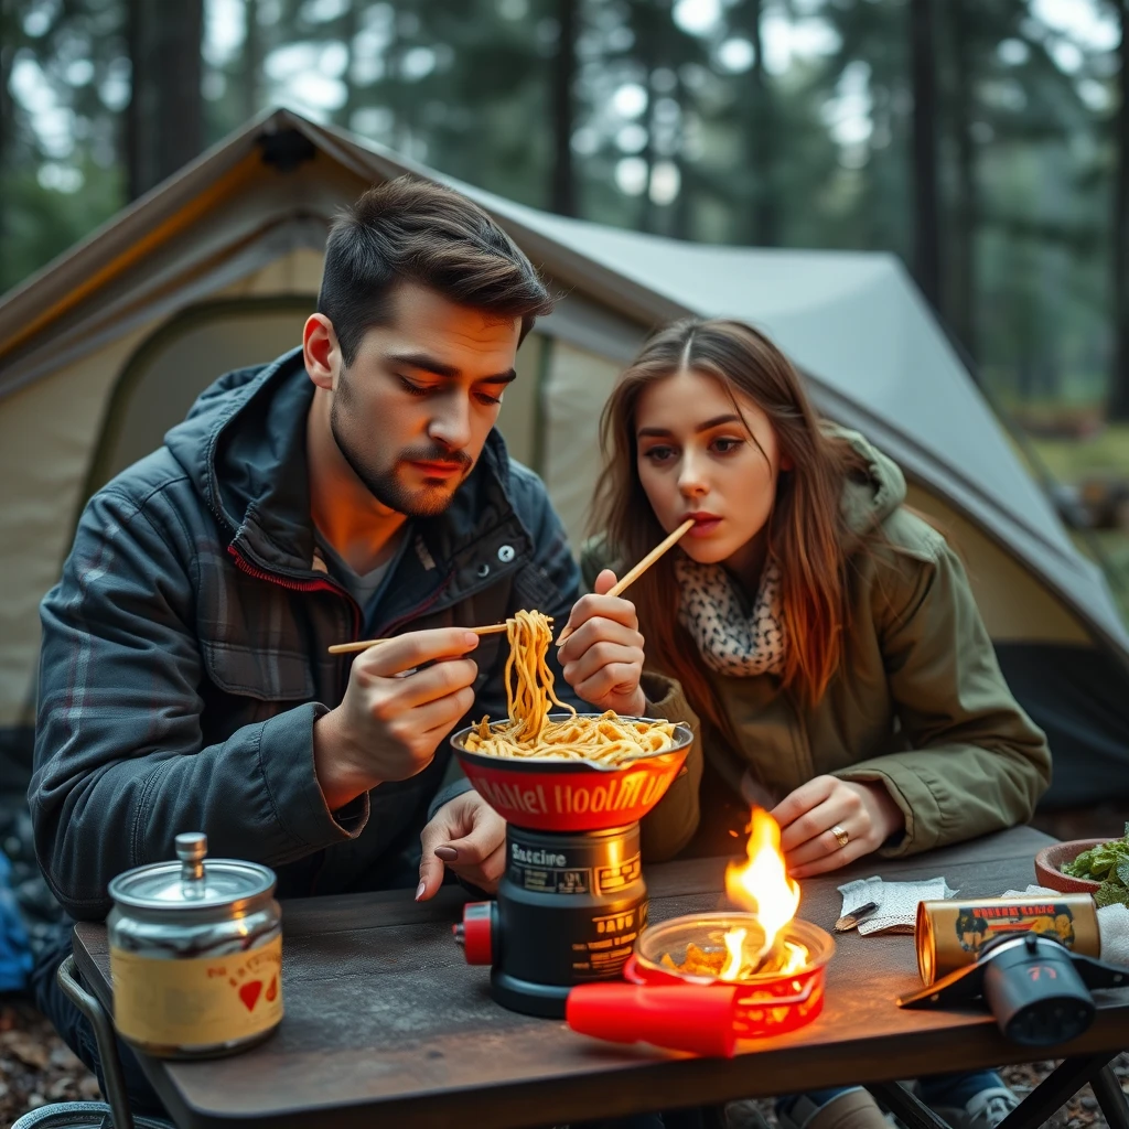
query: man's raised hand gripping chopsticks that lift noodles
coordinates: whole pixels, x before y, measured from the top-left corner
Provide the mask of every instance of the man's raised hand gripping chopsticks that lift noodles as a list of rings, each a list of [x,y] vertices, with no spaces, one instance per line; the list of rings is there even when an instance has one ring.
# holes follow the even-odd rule
[[[341,704],[314,723],[314,769],[330,811],[431,763],[474,703],[479,637],[462,628],[412,631],[358,655]]]

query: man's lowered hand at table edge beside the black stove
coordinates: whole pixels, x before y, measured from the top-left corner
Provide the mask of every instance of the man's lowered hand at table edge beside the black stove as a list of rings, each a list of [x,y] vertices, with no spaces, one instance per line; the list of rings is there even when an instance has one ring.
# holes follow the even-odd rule
[[[476,793],[464,791],[444,804],[420,835],[423,857],[415,901],[427,901],[443,885],[443,870],[488,893],[506,869],[506,821]]]

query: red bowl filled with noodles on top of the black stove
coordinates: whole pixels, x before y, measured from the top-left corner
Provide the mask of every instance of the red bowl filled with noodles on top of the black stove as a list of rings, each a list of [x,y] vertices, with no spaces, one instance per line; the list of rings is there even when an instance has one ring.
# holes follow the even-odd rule
[[[551,744],[510,739],[513,723],[480,723],[452,738],[479,795],[533,831],[599,831],[641,820],[682,770],[686,725],[615,714],[550,714]],[[508,730],[508,732],[507,732]]]

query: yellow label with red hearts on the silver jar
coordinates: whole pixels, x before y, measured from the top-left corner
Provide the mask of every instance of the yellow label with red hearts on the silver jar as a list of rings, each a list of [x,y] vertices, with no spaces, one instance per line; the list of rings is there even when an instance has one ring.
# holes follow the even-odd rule
[[[154,960],[110,951],[114,1024],[154,1047],[250,1039],[282,1018],[282,937],[227,956]]]

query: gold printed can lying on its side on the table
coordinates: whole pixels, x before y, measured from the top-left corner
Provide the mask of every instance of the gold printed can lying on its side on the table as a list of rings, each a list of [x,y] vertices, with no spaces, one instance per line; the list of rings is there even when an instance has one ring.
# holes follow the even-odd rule
[[[935,980],[973,964],[981,948],[1000,936],[1041,933],[1084,956],[1101,955],[1097,909],[1089,894],[981,898],[919,902],[918,971]]]

